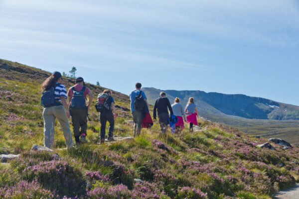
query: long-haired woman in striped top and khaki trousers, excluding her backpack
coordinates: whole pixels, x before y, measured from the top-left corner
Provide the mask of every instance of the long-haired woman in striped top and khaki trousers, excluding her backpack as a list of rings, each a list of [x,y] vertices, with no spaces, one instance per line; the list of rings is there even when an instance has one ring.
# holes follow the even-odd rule
[[[50,77],[48,77],[41,85],[43,91],[47,91],[54,88],[55,103],[51,106],[44,107],[43,119],[44,119],[44,146],[48,148],[54,147],[54,126],[55,119],[57,118],[64,135],[67,148],[73,147],[73,140],[68,119],[70,112],[66,103],[66,89],[61,84],[61,73],[55,71]]]

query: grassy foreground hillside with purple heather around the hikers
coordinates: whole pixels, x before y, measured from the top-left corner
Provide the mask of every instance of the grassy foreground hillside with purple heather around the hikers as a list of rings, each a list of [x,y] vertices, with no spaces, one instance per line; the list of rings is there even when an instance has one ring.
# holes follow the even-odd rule
[[[199,132],[160,134],[155,122],[140,137],[98,145],[100,124],[91,109],[89,144],[29,151],[43,144],[40,83],[49,73],[3,62],[9,69],[0,67],[0,150],[21,156],[0,165],[0,198],[270,199],[299,182],[298,147],[259,148],[266,139],[207,120],[199,121]],[[69,87],[72,81],[63,83]],[[88,86],[94,95],[104,89]],[[128,96],[113,95],[116,104],[129,108]],[[117,112],[114,134],[132,136],[129,111]],[[55,129],[55,148],[64,148],[57,122]]]

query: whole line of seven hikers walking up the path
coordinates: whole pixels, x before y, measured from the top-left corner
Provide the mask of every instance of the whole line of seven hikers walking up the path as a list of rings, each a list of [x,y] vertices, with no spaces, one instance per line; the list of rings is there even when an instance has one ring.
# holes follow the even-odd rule
[[[73,139],[68,122],[71,117],[73,125],[73,133],[75,137],[75,145],[87,143],[87,118],[88,110],[93,100],[93,94],[84,83],[82,77],[75,79],[75,85],[66,92],[65,86],[62,84],[63,77],[60,72],[55,71],[42,83],[41,105],[43,109],[44,119],[44,146],[48,148],[54,147],[54,126],[55,119],[59,121],[67,148],[73,147]],[[142,127],[149,128],[153,121],[149,114],[149,104],[146,94],[141,91],[141,83],[135,85],[135,90],[130,93],[131,113],[134,121],[134,136],[139,136]],[[89,97],[86,104],[87,96]],[[68,99],[68,103],[66,101]],[[193,125],[197,125],[197,109],[194,99],[190,98],[185,109],[179,103],[179,98],[174,100],[170,105],[168,98],[164,92],[160,93],[159,98],[155,101],[153,107],[153,119],[156,119],[156,111],[162,133],[165,133],[168,124],[171,132],[178,132],[184,128],[184,121],[190,124],[190,131]],[[108,89],[100,93],[95,105],[99,112],[101,130],[100,142],[105,142],[106,123],[109,122],[108,140],[113,141],[113,130],[115,118],[117,117],[115,102],[112,92]],[[169,112],[168,112],[169,110]]]

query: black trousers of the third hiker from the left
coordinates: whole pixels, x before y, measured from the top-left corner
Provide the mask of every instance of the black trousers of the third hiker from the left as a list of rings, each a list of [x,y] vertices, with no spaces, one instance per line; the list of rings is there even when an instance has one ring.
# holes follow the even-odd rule
[[[108,131],[108,137],[113,136],[113,129],[114,129],[114,116],[112,111],[107,112],[101,112],[100,113],[100,122],[101,122],[101,139],[105,138],[106,134],[106,123],[109,121],[109,131]]]

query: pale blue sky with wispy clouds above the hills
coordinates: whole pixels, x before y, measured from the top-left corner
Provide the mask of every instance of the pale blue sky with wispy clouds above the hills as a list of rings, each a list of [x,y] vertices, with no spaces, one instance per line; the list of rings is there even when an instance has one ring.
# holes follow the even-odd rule
[[[0,58],[124,94],[144,87],[299,105],[299,1],[0,0]]]

